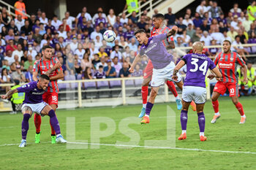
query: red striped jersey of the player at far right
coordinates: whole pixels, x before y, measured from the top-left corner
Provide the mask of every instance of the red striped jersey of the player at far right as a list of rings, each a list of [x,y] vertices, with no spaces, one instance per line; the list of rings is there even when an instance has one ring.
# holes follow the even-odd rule
[[[236,69],[238,64],[244,66],[244,60],[236,52],[229,54],[219,53],[214,59],[215,65],[219,66],[219,72],[222,73],[222,82],[238,83],[238,76]]]

